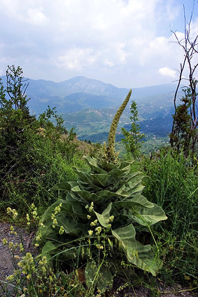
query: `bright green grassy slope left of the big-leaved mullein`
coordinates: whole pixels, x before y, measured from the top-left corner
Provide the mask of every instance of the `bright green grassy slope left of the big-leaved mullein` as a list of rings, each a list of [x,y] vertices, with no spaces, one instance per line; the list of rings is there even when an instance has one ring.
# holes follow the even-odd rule
[[[0,211],[4,213],[4,209],[11,206],[19,213],[26,213],[29,205],[35,203],[39,212],[43,213],[59,198],[58,192],[50,189],[62,181],[75,181],[77,176],[73,167],[86,166],[84,152],[97,154],[98,150],[78,140],[53,142],[50,138],[36,135],[24,163],[21,162],[9,174],[2,174]],[[1,170],[3,173],[3,168]]]

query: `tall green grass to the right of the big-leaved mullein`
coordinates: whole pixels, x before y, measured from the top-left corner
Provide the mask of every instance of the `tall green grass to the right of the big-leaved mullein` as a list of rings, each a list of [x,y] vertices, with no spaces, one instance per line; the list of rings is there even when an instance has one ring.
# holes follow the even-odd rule
[[[144,158],[139,166],[148,176],[144,195],[168,217],[153,227],[164,259],[161,275],[198,284],[198,168],[170,149]]]

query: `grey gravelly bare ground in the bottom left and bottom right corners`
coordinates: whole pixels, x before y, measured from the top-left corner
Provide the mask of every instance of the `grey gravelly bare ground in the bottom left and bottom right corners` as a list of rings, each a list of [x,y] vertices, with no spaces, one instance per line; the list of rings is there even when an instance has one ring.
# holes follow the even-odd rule
[[[0,282],[3,284],[6,281],[6,276],[12,274],[13,272],[13,264],[12,258],[9,253],[7,247],[3,246],[2,240],[5,238],[8,243],[13,242],[14,244],[21,243],[23,240],[24,248],[26,252],[31,252],[33,255],[36,255],[38,251],[35,247],[32,246],[32,241],[34,238],[35,233],[28,233],[22,227],[14,227],[17,233],[11,234],[10,233],[10,225],[9,223],[0,223]],[[118,280],[119,282],[119,280]],[[164,296],[164,297],[198,297],[198,290],[190,290],[186,286],[181,286],[175,284],[171,287],[163,287],[161,282],[158,283],[157,287],[158,294],[155,296]],[[156,292],[157,292],[156,291]],[[114,296],[117,297],[151,297],[153,294],[150,292],[149,288],[145,287],[136,287],[136,288],[124,288],[123,290],[117,291],[114,293]],[[11,296],[10,296],[11,297]]]

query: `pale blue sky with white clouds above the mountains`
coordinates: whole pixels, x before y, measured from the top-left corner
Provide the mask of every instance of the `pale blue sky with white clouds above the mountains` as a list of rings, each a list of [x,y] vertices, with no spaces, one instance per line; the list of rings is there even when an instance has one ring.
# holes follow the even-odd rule
[[[25,77],[54,82],[86,76],[119,88],[172,83],[184,53],[170,28],[184,37],[183,4],[189,20],[193,0],[0,0],[0,76],[13,64]]]

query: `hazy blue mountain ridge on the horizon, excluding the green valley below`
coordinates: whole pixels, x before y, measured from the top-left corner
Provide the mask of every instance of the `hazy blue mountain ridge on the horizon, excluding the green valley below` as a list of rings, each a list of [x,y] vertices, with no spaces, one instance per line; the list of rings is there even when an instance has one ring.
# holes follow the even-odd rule
[[[5,86],[6,76],[2,76],[1,79]],[[174,91],[174,84],[133,88],[132,99],[140,103],[151,96]],[[128,92],[129,89],[116,88],[84,76],[76,76],[60,83],[29,79],[26,91],[27,96],[31,98],[28,102],[30,110],[36,114],[42,113],[48,105],[56,106],[59,113],[66,114],[85,108],[117,107]]]

